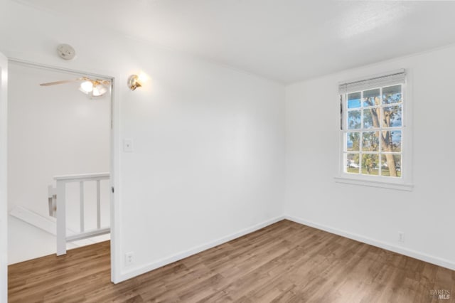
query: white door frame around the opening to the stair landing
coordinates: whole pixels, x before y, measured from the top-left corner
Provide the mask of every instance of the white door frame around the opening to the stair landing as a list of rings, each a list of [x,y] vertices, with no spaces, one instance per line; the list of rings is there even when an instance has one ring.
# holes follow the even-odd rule
[[[23,66],[28,66],[32,68],[38,68],[41,70],[50,70],[54,72],[60,72],[60,73],[68,73],[68,74],[74,74],[74,75],[87,75],[93,78],[102,78],[105,80],[110,80],[111,81],[111,100],[110,100],[110,163],[109,163],[109,174],[110,174],[110,186],[112,190],[110,191],[110,253],[111,253],[111,281],[112,282],[119,282],[119,271],[120,271],[120,266],[121,262],[119,258],[117,257],[119,254],[117,254],[117,251],[119,250],[119,233],[117,230],[119,230],[119,178],[117,178],[117,168],[119,167],[119,154],[116,152],[119,150],[117,148],[117,145],[119,144],[119,85],[117,85],[117,78],[112,76],[112,75],[104,75],[102,73],[93,73],[92,71],[87,71],[87,70],[73,70],[70,68],[61,68],[58,66],[53,66],[53,65],[46,65],[46,64],[41,64],[41,63],[34,63],[31,61],[27,60],[21,60],[17,58],[8,58],[9,63],[14,63],[18,65],[23,65]],[[0,66],[1,67],[1,66]],[[7,100],[4,100],[4,105],[0,104],[0,110],[3,109],[3,107],[7,108]],[[6,119],[2,119],[3,116],[7,118],[7,111],[3,112],[1,114],[0,112],[0,121],[3,123],[3,121],[6,121]],[[0,144],[1,144],[1,153],[0,156],[4,156],[4,159],[0,157],[0,161],[4,160],[7,163],[7,140],[6,140],[6,135],[7,135],[7,124],[6,122],[4,123],[4,128],[1,129],[0,133]],[[1,163],[0,163],[0,168],[1,168]],[[6,166],[4,166],[6,167]],[[5,175],[4,179],[4,186],[5,189],[7,188],[7,179],[6,179],[6,170],[1,170],[1,174]],[[1,185],[0,185],[1,186]],[[114,190],[115,189],[115,190]],[[6,194],[4,195],[6,197]],[[6,198],[5,198],[5,206],[6,206],[6,218],[8,218],[7,214],[7,207],[8,203],[6,203]],[[7,224],[6,224],[7,225]],[[7,228],[6,228],[7,230]],[[6,231],[7,233],[7,231]],[[3,245],[2,245],[3,246]],[[8,250],[7,248],[7,243],[4,246],[6,251]],[[6,260],[6,265],[7,265],[7,260]],[[6,274],[7,275],[7,274]],[[7,290],[7,289],[6,289]],[[0,303],[1,302],[0,300]]]

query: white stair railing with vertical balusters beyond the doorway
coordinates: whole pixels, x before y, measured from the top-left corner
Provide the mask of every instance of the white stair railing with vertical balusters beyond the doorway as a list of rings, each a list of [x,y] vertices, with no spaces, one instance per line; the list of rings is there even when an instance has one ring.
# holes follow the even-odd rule
[[[49,216],[55,216],[57,219],[57,255],[66,254],[66,243],[75,240],[92,238],[97,235],[110,233],[110,228],[101,228],[101,191],[100,182],[108,180],[109,173],[102,174],[77,174],[67,176],[55,176],[55,188],[48,187]],[[84,184],[85,182],[95,181],[97,188],[97,228],[85,231],[84,218]],[[79,183],[79,203],[80,203],[80,233],[75,235],[66,235],[66,185],[69,183]]]

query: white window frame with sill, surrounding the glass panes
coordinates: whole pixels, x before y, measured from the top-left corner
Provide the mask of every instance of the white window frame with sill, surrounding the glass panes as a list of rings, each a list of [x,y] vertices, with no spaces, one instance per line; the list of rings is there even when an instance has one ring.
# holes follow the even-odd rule
[[[391,75],[397,75],[403,73],[405,75],[404,82],[394,82]],[[390,77],[391,80],[388,83],[380,83],[380,79]],[[344,81],[340,83],[340,103],[341,103],[341,125],[340,125],[340,135],[339,135],[339,165],[338,165],[338,174],[335,177],[335,181],[342,184],[355,184],[360,186],[372,186],[379,188],[390,188],[397,189],[401,191],[412,191],[414,188],[412,184],[412,93],[410,89],[410,80],[411,75],[409,70],[393,70],[387,73],[381,73],[377,75],[370,75],[365,78],[355,79]],[[379,84],[371,85],[371,82],[375,83],[375,80]],[[350,83],[360,83],[357,88],[348,88]],[[402,85],[402,159],[401,159],[401,177],[390,177],[390,176],[373,176],[365,174],[351,174],[345,171],[345,159],[344,159],[344,139],[345,134],[348,132],[347,121],[343,119],[346,117],[347,113],[347,100],[346,95],[350,92],[358,92],[370,90],[378,87],[387,87],[394,84]],[[362,86],[363,85],[363,86]],[[340,116],[338,116],[340,118]],[[382,128],[380,128],[382,129]],[[380,131],[380,129],[374,129],[374,131]],[[373,131],[373,129],[372,129]],[[361,163],[360,163],[361,166]]]

